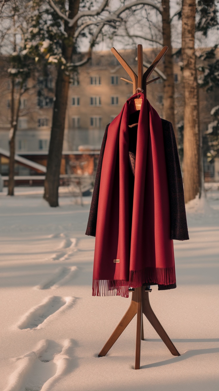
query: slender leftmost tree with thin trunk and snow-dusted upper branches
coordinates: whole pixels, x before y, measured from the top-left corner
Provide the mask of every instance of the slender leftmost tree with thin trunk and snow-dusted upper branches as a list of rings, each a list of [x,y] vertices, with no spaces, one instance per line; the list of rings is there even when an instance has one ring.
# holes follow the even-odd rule
[[[9,132],[9,181],[8,195],[14,195],[14,155],[15,155],[15,137],[18,129],[18,118],[20,115],[20,100],[23,93],[27,90],[27,80],[34,59],[27,55],[25,50],[25,30],[28,29],[27,2],[23,0],[8,0],[4,8],[0,9],[1,19],[1,44],[8,56],[9,68],[7,74],[11,79],[11,129]]]

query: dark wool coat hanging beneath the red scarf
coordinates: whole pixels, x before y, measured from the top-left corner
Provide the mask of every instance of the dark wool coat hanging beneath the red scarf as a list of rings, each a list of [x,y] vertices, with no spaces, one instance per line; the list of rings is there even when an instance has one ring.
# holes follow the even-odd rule
[[[96,236],[96,222],[97,222],[97,212],[98,212],[101,167],[102,167],[105,144],[107,140],[108,127],[109,124],[107,125],[103,136],[103,142],[101,145],[100,157],[98,161],[98,167],[97,167],[96,178],[94,183],[93,197],[91,201],[91,209],[90,209],[89,219],[87,223],[87,230],[85,232],[86,235],[91,235],[94,237]],[[163,128],[163,136],[164,136],[167,182],[168,182],[168,190],[169,190],[169,206],[170,206],[170,221],[171,221],[170,239],[187,240],[189,239],[189,234],[188,234],[187,220],[185,214],[183,181],[182,181],[180,161],[178,157],[178,150],[177,150],[176,140],[174,136],[173,126],[171,122],[162,119],[162,128]],[[129,147],[129,151],[130,151],[130,165],[133,172],[134,169],[133,164],[135,164],[133,160],[135,160],[136,145],[131,144]],[[158,290],[172,289],[175,287],[176,284],[158,285]]]

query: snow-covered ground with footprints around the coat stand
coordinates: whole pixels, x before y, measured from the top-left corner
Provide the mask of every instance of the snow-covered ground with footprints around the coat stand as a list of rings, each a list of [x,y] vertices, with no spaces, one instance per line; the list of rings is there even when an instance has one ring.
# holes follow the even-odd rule
[[[134,370],[136,317],[106,357],[98,353],[130,298],[92,297],[94,238],[84,235],[90,197],[42,189],[0,193],[0,390],[216,391],[219,389],[219,186],[187,205],[190,240],[175,242],[177,288],[150,301],[180,357],[144,317]],[[65,196],[64,196],[65,195]],[[78,204],[76,203],[78,201]]]

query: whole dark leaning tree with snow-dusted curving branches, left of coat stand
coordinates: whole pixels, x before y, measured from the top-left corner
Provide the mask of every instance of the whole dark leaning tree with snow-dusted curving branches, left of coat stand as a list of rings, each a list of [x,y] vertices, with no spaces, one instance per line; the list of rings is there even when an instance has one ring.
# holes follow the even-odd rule
[[[73,53],[77,47],[77,39],[86,31],[91,35],[90,46],[87,56],[84,60],[73,63],[77,67],[85,64],[91,57],[91,50],[98,41],[98,36],[101,34],[104,27],[110,26],[117,28],[123,21],[123,14],[129,9],[134,9],[138,5],[145,5],[162,11],[162,7],[146,0],[135,0],[122,2],[118,8],[110,9],[107,7],[108,0],[103,0],[99,7],[86,7],[82,9],[84,2],[80,0],[69,0],[68,9],[65,10],[64,2],[59,1],[56,4],[52,0],[48,0],[52,9],[57,15],[64,20],[64,32],[66,39],[62,43],[62,57],[64,62],[72,64]],[[65,10],[65,12],[64,12]],[[89,30],[92,27],[92,30]],[[52,130],[50,138],[50,147],[48,154],[48,165],[45,179],[45,194],[44,198],[50,206],[58,206],[58,189],[59,189],[59,172],[61,166],[62,144],[64,138],[64,123],[66,115],[68,88],[70,81],[70,72],[66,72],[66,67],[59,64],[55,103],[53,108]]]

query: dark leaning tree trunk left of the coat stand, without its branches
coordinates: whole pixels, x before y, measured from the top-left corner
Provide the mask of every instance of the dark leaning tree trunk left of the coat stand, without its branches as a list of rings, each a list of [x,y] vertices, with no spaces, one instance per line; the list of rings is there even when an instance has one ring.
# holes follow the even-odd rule
[[[80,0],[69,0],[68,17],[72,19],[77,13],[80,5]],[[73,53],[73,36],[75,33],[76,24],[72,27],[65,22],[65,31],[68,35],[63,41],[62,55],[67,63],[71,63]],[[69,75],[65,70],[58,68],[55,102],[53,107],[52,129],[50,136],[50,147],[48,153],[48,162],[46,170],[46,178],[44,183],[44,198],[50,206],[59,206],[59,174],[62,160],[62,145],[64,139],[64,127],[66,108],[68,101]]]

